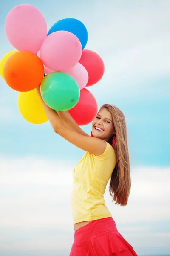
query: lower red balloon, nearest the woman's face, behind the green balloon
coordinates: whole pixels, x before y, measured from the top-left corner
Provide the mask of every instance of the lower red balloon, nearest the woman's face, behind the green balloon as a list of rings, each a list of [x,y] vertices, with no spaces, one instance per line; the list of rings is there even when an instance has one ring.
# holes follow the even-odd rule
[[[70,115],[78,125],[88,125],[98,112],[98,105],[94,95],[89,90],[80,90],[80,99],[74,108],[69,110]]]

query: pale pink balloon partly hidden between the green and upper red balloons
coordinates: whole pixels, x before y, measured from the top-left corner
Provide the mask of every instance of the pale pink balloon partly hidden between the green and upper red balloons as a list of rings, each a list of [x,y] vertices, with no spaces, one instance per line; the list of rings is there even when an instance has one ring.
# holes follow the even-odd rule
[[[79,62],[74,67],[71,67],[68,70],[62,70],[62,72],[72,76],[79,84],[80,90],[82,90],[88,83],[88,72]]]

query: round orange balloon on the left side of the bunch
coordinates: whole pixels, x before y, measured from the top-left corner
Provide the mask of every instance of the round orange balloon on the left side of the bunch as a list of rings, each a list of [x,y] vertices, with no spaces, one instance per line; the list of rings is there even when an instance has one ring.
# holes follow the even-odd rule
[[[34,90],[42,82],[44,66],[34,53],[20,51],[6,60],[3,76],[12,89],[28,92]]]

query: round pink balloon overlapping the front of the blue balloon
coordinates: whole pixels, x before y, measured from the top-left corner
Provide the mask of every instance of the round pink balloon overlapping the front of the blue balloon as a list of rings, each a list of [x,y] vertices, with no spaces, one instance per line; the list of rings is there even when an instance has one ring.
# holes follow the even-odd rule
[[[57,31],[45,38],[40,48],[43,64],[54,71],[69,69],[77,64],[82,55],[82,45],[76,35]]]

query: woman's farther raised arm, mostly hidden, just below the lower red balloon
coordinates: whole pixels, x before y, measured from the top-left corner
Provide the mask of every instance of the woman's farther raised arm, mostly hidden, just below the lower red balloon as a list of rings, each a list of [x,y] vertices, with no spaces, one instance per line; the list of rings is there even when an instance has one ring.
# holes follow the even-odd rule
[[[89,137],[89,135],[87,133],[85,133],[85,131],[83,131],[79,127],[79,125],[77,125],[77,122],[72,118],[72,116],[70,115],[70,113],[68,111],[56,111],[56,112],[59,115],[59,117],[63,120],[65,125],[67,125],[72,130],[77,131],[79,134]]]

